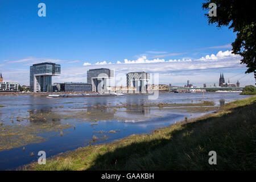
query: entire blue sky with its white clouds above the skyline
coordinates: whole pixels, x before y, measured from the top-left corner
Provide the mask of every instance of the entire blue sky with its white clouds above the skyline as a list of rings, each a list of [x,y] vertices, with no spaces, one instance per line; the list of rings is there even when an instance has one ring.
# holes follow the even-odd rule
[[[38,16],[40,2],[46,17]],[[0,71],[26,85],[29,66],[45,61],[61,64],[54,82],[86,82],[88,69],[106,67],[117,74],[159,73],[164,84],[213,85],[220,72],[254,84],[252,74],[243,75],[240,57],[229,52],[236,34],[209,25],[202,3],[1,0]]]

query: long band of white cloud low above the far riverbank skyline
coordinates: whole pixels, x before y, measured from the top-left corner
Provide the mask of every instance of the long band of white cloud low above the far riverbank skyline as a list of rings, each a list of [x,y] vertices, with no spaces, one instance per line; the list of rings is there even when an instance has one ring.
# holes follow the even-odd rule
[[[240,64],[241,57],[233,55],[231,51],[218,52],[216,55],[206,55],[201,59],[148,59],[146,56],[141,56],[136,60],[123,60],[115,63],[107,63],[99,61],[96,64],[83,63],[84,67],[72,66],[65,67],[61,65],[61,75],[53,77],[53,82],[86,82],[86,72],[93,68],[110,68],[114,69],[115,74],[125,74],[128,72],[145,71],[149,73],[159,73],[160,82],[184,82],[188,78],[192,82],[216,82],[218,76],[209,77],[218,72],[245,72],[246,67]],[[39,59],[38,59],[39,60]],[[15,67],[14,63],[12,67]],[[3,67],[2,67],[3,68]],[[0,65],[1,69],[1,65]],[[76,72],[74,72],[76,70]],[[5,80],[18,81],[20,84],[29,84],[29,68],[23,70],[8,71],[3,70]],[[230,73],[231,74],[231,73]],[[197,75],[197,76],[195,76]],[[200,76],[199,76],[200,75]],[[218,74],[217,74],[218,75]],[[215,78],[216,77],[216,78]],[[181,79],[182,78],[182,79]],[[217,79],[217,80],[214,80]],[[253,83],[254,77],[251,76],[250,82]]]

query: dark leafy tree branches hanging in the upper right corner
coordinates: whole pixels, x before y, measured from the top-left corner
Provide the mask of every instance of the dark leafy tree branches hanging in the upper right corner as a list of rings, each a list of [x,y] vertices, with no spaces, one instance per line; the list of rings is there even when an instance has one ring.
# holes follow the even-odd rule
[[[255,63],[255,5],[249,0],[205,0],[203,9],[208,10],[210,3],[217,5],[217,16],[209,16],[209,24],[216,24],[217,27],[229,26],[237,33],[236,40],[232,43],[232,53],[241,55],[241,64],[248,68],[245,73],[254,72],[256,80]]]

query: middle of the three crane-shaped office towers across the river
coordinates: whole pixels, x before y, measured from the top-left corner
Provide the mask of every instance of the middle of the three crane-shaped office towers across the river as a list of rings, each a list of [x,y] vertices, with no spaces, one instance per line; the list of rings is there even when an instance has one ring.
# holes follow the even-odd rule
[[[114,71],[106,68],[89,69],[87,71],[87,84],[92,85],[92,92],[107,92],[110,86],[110,78],[114,77]]]

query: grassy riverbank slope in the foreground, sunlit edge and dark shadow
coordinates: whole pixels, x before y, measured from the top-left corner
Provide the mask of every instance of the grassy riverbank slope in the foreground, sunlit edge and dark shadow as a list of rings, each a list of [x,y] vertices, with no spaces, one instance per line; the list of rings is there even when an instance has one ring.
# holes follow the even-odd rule
[[[218,113],[176,123],[152,134],[78,148],[31,170],[255,170],[256,97],[234,101]],[[209,165],[209,151],[217,165]]]

